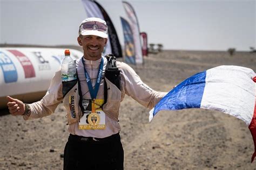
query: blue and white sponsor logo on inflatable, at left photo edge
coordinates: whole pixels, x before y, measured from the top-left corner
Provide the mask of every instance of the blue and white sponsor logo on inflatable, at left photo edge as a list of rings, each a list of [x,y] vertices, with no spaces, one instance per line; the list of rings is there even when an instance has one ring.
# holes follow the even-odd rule
[[[16,67],[12,60],[3,52],[0,52],[0,65],[3,70],[5,83],[16,82],[18,79]]]

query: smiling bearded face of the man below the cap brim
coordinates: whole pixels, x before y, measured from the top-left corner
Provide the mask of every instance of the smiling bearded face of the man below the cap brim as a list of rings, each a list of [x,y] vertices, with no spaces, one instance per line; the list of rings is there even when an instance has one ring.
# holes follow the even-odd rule
[[[80,36],[77,38],[78,44],[83,47],[84,57],[89,60],[97,60],[102,57],[104,46],[107,43],[106,38],[99,36]]]

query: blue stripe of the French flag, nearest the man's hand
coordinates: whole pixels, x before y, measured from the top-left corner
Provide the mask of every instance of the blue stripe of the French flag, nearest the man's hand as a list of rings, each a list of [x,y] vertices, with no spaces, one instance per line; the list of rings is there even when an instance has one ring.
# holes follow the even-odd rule
[[[200,108],[205,89],[206,71],[194,74],[172,89],[154,107],[153,116],[160,110]]]

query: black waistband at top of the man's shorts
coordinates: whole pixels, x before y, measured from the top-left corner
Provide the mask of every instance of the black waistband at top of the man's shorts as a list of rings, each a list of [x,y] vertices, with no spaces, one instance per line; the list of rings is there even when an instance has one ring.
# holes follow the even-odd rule
[[[119,132],[116,134],[112,134],[111,136],[106,138],[82,137],[82,136],[73,135],[73,134],[69,135],[69,141],[72,141],[72,142],[105,143],[105,142],[113,142],[116,140],[120,140]]]

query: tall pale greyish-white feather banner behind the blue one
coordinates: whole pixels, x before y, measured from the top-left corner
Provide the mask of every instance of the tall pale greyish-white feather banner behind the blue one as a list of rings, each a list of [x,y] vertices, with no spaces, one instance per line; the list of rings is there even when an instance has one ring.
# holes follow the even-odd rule
[[[124,5],[125,12],[129,18],[129,24],[131,25],[131,29],[133,33],[136,64],[143,64],[142,45],[140,43],[139,22],[138,22],[136,13],[133,10],[131,4],[129,4],[128,2],[123,2],[123,5]]]

